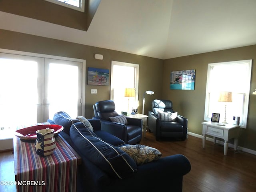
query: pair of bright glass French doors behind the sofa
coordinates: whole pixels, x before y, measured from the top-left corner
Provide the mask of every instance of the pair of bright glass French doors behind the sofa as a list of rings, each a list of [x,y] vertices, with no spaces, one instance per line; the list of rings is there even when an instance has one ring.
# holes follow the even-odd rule
[[[0,139],[58,111],[82,115],[82,79],[82,62],[0,53]]]

